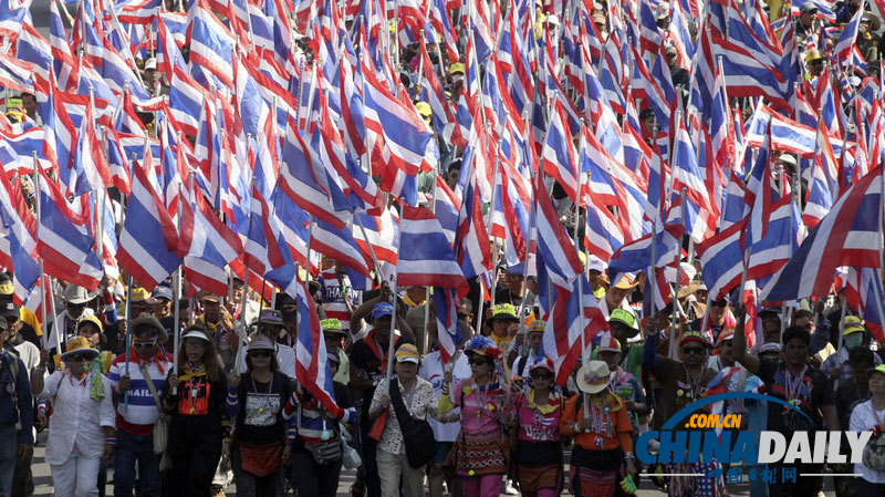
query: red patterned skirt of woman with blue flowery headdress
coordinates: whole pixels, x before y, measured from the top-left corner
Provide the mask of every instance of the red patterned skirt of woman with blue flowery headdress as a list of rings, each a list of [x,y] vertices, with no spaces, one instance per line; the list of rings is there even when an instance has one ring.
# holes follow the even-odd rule
[[[458,476],[503,475],[510,467],[508,439],[500,432],[461,434],[444,466]]]

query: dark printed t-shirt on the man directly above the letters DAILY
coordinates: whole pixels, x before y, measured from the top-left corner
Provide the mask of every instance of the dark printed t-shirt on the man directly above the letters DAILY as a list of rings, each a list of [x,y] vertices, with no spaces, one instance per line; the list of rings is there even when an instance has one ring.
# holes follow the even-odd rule
[[[790,386],[792,375],[789,374],[787,363],[770,359],[759,360],[759,377],[766,382],[766,393],[780,400],[790,402],[796,400],[795,405],[802,410],[814,423],[809,421],[795,410],[782,405],[769,404],[768,429],[772,432],[814,431],[823,428],[821,407],[835,405],[833,387],[821,370],[806,365],[802,379],[795,386]]]

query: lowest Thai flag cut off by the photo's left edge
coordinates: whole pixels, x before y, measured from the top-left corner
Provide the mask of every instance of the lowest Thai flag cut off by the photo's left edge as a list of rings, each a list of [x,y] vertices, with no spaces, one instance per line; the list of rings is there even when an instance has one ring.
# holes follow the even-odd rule
[[[0,175],[0,222],[4,237],[0,239],[0,263],[12,271],[13,300],[22,306],[40,278],[37,255],[37,220],[28,208],[21,187],[10,184],[7,175]],[[18,182],[15,182],[18,183]]]

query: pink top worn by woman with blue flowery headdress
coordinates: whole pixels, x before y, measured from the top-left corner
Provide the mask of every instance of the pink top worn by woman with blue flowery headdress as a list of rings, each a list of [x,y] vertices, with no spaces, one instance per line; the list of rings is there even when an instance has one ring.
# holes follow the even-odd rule
[[[464,405],[461,405],[461,392],[464,392]],[[461,431],[465,434],[479,435],[501,431],[501,412],[508,406],[506,386],[499,382],[487,383],[479,387],[473,379],[461,380],[455,384],[449,398],[452,404],[461,408]]]

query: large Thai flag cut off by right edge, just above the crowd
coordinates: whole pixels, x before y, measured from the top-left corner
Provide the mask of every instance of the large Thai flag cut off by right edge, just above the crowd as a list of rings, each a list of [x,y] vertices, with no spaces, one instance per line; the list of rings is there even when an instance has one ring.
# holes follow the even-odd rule
[[[774,275],[761,300],[825,297],[839,266],[879,267],[882,167],[853,184]]]

